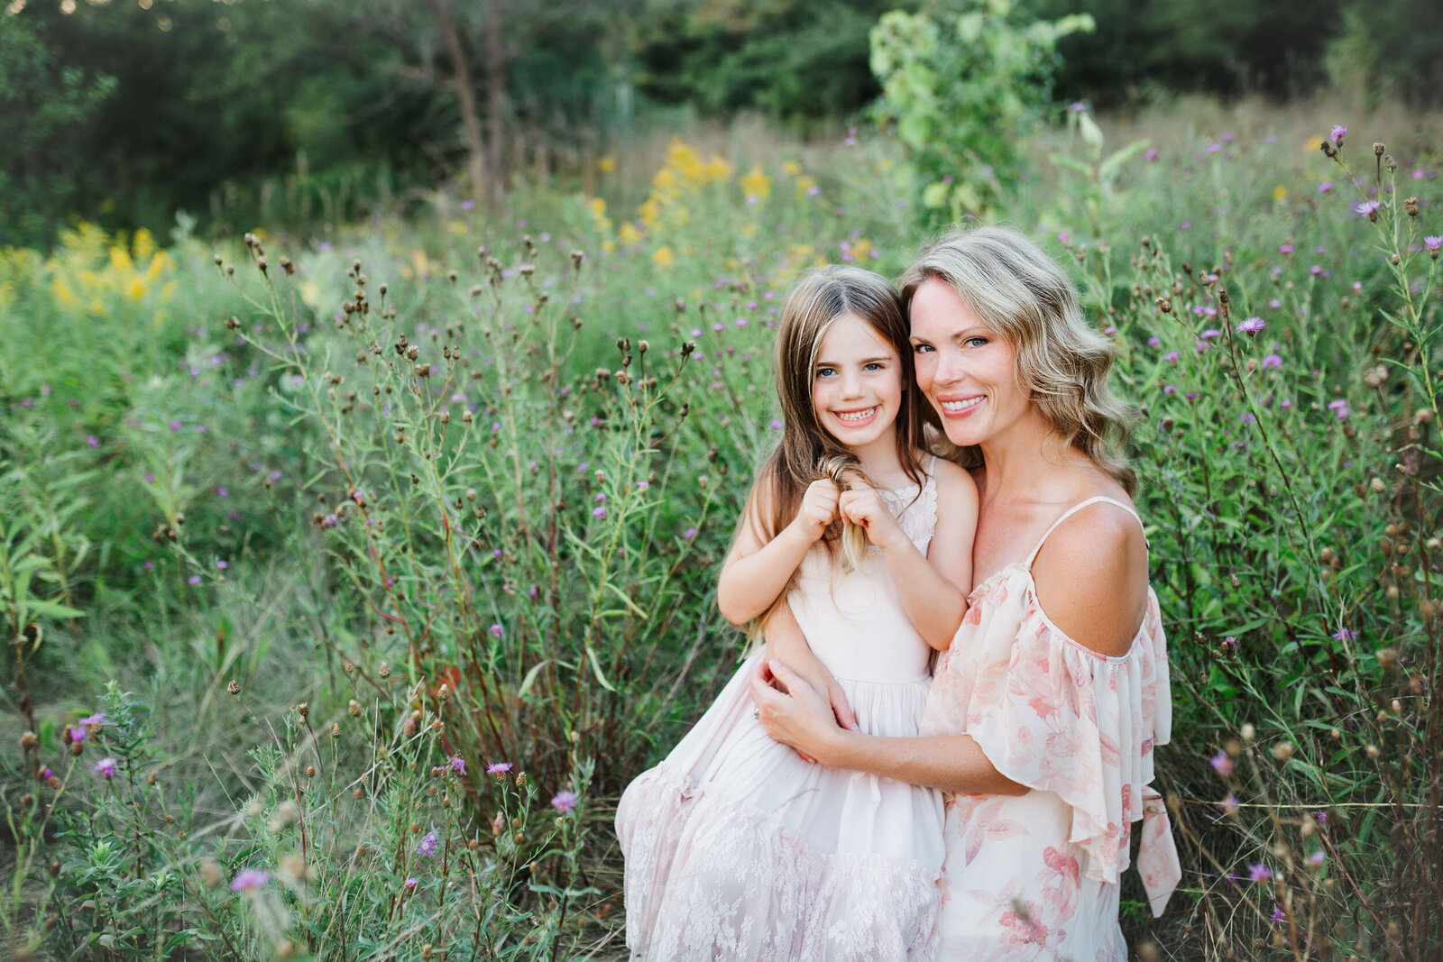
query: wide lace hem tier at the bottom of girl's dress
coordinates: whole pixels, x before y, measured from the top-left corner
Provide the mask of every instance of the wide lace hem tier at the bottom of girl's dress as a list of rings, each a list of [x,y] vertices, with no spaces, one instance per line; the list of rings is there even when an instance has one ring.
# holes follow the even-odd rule
[[[636,806],[645,819],[622,809]],[[925,962],[938,873],[915,860],[818,852],[765,813],[661,764],[616,813],[632,959]]]

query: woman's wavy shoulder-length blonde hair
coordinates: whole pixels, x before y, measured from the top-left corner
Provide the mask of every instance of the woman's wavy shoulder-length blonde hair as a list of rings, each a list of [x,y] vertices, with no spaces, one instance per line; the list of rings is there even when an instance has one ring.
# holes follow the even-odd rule
[[[1017,382],[1032,394],[1053,436],[1134,493],[1137,475],[1121,454],[1133,412],[1107,387],[1113,345],[1088,325],[1076,288],[1056,261],[1010,228],[957,229],[902,275],[908,309],[928,280],[947,284],[978,320],[1012,343]],[[928,420],[939,428],[931,405]],[[978,466],[981,451],[962,449],[960,460]]]

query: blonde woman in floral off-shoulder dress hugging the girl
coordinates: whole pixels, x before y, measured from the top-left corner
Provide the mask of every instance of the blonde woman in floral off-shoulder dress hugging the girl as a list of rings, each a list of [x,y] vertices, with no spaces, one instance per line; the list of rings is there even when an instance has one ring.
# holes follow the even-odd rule
[[[977,480],[970,612],[937,666],[922,734],[837,727],[769,662],[768,733],[821,764],[944,789],[941,959],[1126,959],[1131,824],[1160,913],[1180,870],[1152,790],[1167,656],[1147,586],[1113,352],[1066,275],[1014,231],[955,232],[902,278],[918,387]],[[797,632],[785,606],[769,640]]]

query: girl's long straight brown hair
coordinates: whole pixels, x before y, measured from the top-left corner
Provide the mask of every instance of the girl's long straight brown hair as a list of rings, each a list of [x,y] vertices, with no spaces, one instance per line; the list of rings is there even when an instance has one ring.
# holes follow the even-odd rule
[[[896,417],[898,462],[913,483],[922,483],[922,466],[918,463],[922,412],[902,299],[880,274],[860,267],[818,268],[804,277],[786,299],[776,332],[775,376],[782,407],[782,440],[762,464],[742,519],[743,525],[759,524],[758,534],[763,541],[771,541],[792,522],[807,486],[814,480],[851,472],[861,475],[857,456],[823,428],[812,404],[821,340],[844,314],[866,322],[898,353],[902,379]],[[823,538],[828,552],[840,537],[841,525],[834,522]]]

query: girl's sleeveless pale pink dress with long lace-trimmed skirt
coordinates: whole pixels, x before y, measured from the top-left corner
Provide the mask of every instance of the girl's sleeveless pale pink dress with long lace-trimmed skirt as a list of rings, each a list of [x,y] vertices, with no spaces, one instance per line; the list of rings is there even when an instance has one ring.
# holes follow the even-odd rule
[[[937,485],[885,492],[925,554]],[[788,603],[861,731],[916,736],[926,642],[880,552],[843,573],[823,548]],[[929,962],[937,955],[942,795],[802,762],[752,715],[747,658],[661,764],[616,809],[626,945],[657,962]]]

